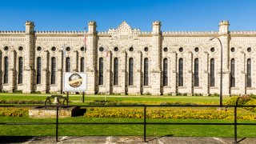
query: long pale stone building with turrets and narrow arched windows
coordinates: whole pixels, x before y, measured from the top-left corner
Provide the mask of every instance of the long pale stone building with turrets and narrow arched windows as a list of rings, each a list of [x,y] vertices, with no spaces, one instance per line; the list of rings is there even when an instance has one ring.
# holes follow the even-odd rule
[[[256,31],[0,31],[0,89],[62,92],[62,71],[86,72],[86,94],[256,94]],[[84,38],[86,37],[86,46]],[[217,38],[214,38],[217,37]],[[214,40],[210,41],[210,38]],[[221,43],[218,42],[218,38]],[[64,55],[63,47],[66,50]]]

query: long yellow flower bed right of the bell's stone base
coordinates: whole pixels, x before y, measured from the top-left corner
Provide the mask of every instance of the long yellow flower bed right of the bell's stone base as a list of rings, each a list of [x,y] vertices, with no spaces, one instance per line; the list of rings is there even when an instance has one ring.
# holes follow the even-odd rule
[[[144,112],[138,108],[87,108],[86,118],[144,118]],[[146,118],[174,118],[174,119],[234,119],[234,111],[226,110],[194,110],[190,108],[154,108],[146,110]],[[255,114],[238,112],[238,119],[255,120]]]

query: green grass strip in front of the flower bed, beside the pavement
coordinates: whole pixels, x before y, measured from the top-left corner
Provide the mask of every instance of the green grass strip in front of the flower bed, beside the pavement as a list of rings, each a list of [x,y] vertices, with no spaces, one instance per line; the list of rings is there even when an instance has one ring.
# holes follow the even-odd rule
[[[54,118],[11,118],[0,117],[0,122],[55,122]],[[60,118],[59,122],[143,122],[140,118]],[[194,119],[147,119],[147,122],[234,122],[231,120],[194,120]],[[256,122],[244,121],[239,122]],[[238,126],[238,137],[255,137],[256,126]],[[54,125],[34,126],[3,126],[0,125],[0,135],[9,136],[50,136],[55,134]],[[84,135],[130,135],[142,136],[142,125],[59,125],[59,134],[66,136]],[[179,126],[179,125],[147,125],[147,136],[191,136],[191,137],[233,137],[234,126]]]

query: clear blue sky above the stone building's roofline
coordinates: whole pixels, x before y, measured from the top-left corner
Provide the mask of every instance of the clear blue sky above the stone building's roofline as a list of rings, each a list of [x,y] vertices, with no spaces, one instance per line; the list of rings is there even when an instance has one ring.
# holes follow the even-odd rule
[[[162,30],[218,30],[230,21],[230,30],[256,30],[256,0],[0,0],[0,30],[24,30],[26,20],[35,30],[84,30],[96,21],[98,31],[126,21],[150,31],[152,22]]]

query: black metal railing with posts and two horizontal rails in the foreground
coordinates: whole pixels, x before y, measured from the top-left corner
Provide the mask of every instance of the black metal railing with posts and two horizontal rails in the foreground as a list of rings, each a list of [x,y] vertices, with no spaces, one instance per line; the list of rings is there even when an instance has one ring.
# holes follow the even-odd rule
[[[0,105],[0,107],[37,107],[42,105]],[[74,106],[74,105],[71,105]],[[241,142],[242,140],[238,141],[238,130],[237,126],[247,125],[253,126],[256,123],[245,123],[245,122],[237,122],[237,109],[238,107],[256,107],[256,106],[238,106],[238,102],[234,106],[219,106],[219,105],[195,105],[195,106],[180,106],[180,105],[166,105],[166,106],[159,106],[159,105],[140,105],[140,106],[84,106],[84,105],[75,105],[80,107],[142,107],[144,109],[143,112],[143,122],[58,122],[58,109],[60,107],[67,107],[67,106],[46,106],[46,107],[56,107],[56,122],[0,122],[0,125],[55,125],[56,126],[56,142],[58,142],[58,125],[143,125],[144,126],[144,134],[143,139],[146,142],[146,125],[216,125],[216,126],[234,126],[234,143]],[[148,107],[234,107],[234,122],[229,123],[222,123],[222,122],[146,122],[146,108]]]

